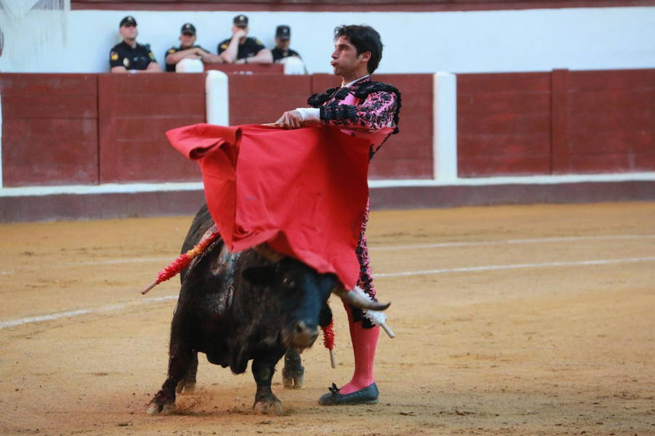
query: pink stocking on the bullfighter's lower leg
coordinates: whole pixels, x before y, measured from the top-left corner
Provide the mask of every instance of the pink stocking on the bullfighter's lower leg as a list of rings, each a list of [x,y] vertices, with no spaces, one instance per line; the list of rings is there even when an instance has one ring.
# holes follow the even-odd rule
[[[355,372],[348,384],[339,390],[339,394],[350,394],[373,384],[373,360],[375,360],[375,348],[377,338],[380,334],[380,327],[370,329],[362,327],[362,322],[352,321],[350,306],[344,304],[348,312],[348,324],[350,326],[350,339],[352,339],[352,352],[355,356]]]

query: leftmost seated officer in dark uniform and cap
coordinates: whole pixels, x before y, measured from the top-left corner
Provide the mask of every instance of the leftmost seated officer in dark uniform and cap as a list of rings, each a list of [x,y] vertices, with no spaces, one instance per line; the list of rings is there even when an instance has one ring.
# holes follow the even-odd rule
[[[119,33],[123,41],[109,52],[109,67],[112,73],[161,73],[162,69],[150,50],[150,44],[136,42],[139,30],[136,28],[134,17],[128,15],[121,20]]]

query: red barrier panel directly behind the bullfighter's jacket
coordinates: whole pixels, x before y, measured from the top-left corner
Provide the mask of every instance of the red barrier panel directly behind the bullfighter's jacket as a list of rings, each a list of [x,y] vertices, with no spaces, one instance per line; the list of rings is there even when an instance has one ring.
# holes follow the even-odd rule
[[[369,178],[432,178],[432,75],[375,75],[402,94],[400,133],[392,135],[371,161]],[[312,93],[339,86],[333,75],[313,75]]]

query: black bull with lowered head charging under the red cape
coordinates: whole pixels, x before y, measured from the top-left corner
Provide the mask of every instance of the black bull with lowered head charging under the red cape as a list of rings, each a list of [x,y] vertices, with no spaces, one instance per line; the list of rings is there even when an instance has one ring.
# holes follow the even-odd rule
[[[205,206],[196,214],[182,252],[193,248],[213,226]],[[311,346],[318,337],[318,326],[331,321],[327,305],[331,292],[356,307],[388,307],[346,293],[335,275],[318,274],[291,258],[274,261],[252,249],[233,254],[221,239],[210,244],[180,277],[168,378],[151,401],[150,414],[172,410],[176,391],[193,389],[198,352],[204,352],[212,363],[229,366],[235,374],[244,373],[252,360],[257,383],[253,408],[279,413],[282,406],[271,391],[275,365],[291,350],[287,361],[295,363],[295,368],[289,370],[289,377],[298,376],[301,367],[294,358],[296,349]],[[288,384],[285,380],[285,386]]]

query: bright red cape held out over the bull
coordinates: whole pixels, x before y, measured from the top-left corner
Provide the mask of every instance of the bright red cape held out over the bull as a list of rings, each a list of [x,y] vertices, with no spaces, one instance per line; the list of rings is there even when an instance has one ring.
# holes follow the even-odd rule
[[[166,136],[200,163],[207,205],[231,250],[267,242],[354,288],[369,141],[331,127],[255,124],[196,124]]]

